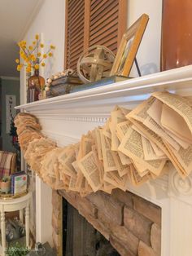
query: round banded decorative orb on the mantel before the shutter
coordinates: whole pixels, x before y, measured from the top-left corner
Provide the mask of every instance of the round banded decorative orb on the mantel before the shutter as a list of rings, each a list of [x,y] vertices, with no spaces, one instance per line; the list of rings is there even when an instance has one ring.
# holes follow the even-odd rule
[[[84,83],[109,77],[116,55],[105,46],[90,46],[77,62],[77,73]]]

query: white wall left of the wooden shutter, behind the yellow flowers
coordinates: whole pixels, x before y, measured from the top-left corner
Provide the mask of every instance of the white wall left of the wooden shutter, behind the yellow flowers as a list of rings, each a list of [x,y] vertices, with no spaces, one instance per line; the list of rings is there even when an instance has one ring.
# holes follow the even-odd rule
[[[63,71],[64,63],[64,33],[65,33],[65,0],[41,0],[43,3],[33,23],[28,28],[24,39],[28,44],[34,41],[37,33],[42,34],[44,44],[56,46],[54,58],[46,61],[46,68],[41,69],[43,77]],[[46,48],[45,48],[46,50]],[[20,72],[20,104],[26,103],[24,68]]]

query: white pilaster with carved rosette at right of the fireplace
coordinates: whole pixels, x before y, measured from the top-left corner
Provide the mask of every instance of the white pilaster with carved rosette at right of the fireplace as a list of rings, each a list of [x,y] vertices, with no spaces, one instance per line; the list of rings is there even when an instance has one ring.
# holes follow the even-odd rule
[[[168,196],[170,198],[169,255],[192,255],[192,175],[181,179],[177,171],[170,172]]]

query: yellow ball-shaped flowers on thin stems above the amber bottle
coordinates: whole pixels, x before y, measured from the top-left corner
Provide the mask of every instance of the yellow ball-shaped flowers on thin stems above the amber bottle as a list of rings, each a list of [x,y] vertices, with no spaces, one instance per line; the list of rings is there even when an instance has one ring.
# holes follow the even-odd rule
[[[45,60],[48,57],[52,57],[55,50],[55,46],[50,45],[48,51],[42,55],[40,49],[44,48],[44,44],[40,41],[38,34],[35,36],[32,45],[27,46],[27,42],[23,40],[18,42],[18,46],[20,46],[20,59],[24,60],[24,64],[20,63],[19,59],[16,59],[17,70],[20,71],[21,68],[26,67],[27,73],[39,69],[40,65],[45,67]]]

